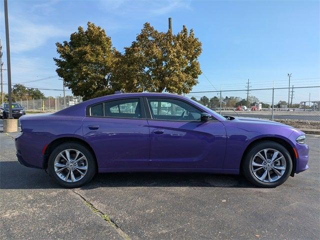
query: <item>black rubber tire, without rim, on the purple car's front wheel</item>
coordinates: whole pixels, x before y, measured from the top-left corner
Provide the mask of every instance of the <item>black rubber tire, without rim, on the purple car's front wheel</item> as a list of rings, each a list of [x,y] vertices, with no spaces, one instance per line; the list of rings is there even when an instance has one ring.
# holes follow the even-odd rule
[[[284,173],[282,174],[282,176],[279,177],[277,180],[271,181],[271,182],[265,182],[265,181],[259,180],[254,175],[252,168],[251,168],[251,163],[252,163],[252,160],[253,160],[253,157],[255,156],[255,154],[257,154],[259,151],[266,149],[266,148],[272,148],[272,149],[279,151],[283,155],[284,161],[286,164],[285,170],[284,170]],[[255,145],[253,145],[248,150],[248,152],[244,155],[241,167],[242,167],[242,172],[243,172],[244,176],[250,182],[252,182],[254,185],[259,186],[259,187],[276,187],[278,185],[281,185],[289,177],[291,170],[292,170],[292,159],[291,159],[290,153],[283,145],[281,145],[277,142],[274,142],[274,141],[266,140],[266,141],[262,141],[262,142],[259,142]]]

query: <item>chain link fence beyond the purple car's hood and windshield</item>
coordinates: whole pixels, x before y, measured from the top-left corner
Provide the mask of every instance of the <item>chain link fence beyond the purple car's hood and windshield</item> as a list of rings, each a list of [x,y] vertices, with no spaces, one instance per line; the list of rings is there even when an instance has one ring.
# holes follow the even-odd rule
[[[185,96],[221,115],[320,124],[320,86],[194,91]]]

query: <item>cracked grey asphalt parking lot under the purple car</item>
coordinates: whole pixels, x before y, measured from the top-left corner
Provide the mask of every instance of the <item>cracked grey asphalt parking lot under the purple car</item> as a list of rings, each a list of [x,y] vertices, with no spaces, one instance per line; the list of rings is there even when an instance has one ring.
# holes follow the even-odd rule
[[[105,173],[66,189],[20,165],[12,136],[0,132],[0,239],[320,235],[320,136],[307,136],[310,168],[271,189],[241,176],[189,173]]]

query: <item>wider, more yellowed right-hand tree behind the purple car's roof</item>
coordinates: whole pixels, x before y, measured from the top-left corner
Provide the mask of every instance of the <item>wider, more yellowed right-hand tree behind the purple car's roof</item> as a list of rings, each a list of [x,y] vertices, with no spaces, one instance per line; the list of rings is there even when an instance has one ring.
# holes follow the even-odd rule
[[[201,42],[185,26],[177,34],[159,32],[148,22],[119,58],[112,77],[128,91],[188,93],[201,74]]]

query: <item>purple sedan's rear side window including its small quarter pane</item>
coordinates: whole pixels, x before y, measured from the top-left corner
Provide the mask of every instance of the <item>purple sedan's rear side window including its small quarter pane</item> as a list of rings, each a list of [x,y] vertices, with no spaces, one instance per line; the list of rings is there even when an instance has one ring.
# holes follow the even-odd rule
[[[105,101],[90,107],[91,116],[141,118],[139,98]]]

